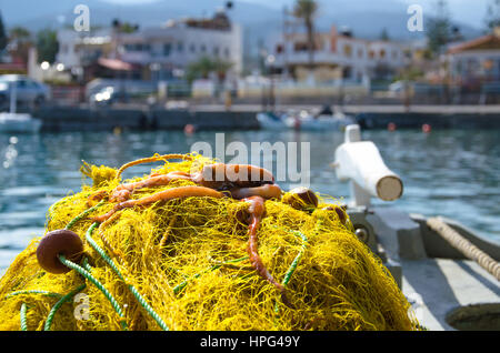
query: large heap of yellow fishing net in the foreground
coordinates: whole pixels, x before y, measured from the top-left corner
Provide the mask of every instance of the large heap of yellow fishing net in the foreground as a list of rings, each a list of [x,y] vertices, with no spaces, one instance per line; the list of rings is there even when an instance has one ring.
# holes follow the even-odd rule
[[[198,154],[163,162],[152,172],[188,173],[212,163]],[[313,210],[266,201],[258,249],[269,273],[287,289],[291,305],[286,305],[249,261],[248,224],[238,216],[248,208],[244,202],[196,196],[156,202],[120,210],[89,230],[90,216],[113,208],[96,195],[109,194],[120,178],[108,167],[87,165],[86,174],[91,184],[49,209],[47,232],[64,229],[93,208],[71,225],[84,245],[80,269],[90,276],[81,270],[44,271],[36,255],[40,239],[33,240],[0,280],[0,330],[418,327],[394,280],[353,234],[349,218],[334,211],[333,199],[320,198]],[[176,180],[133,198],[190,184]]]

